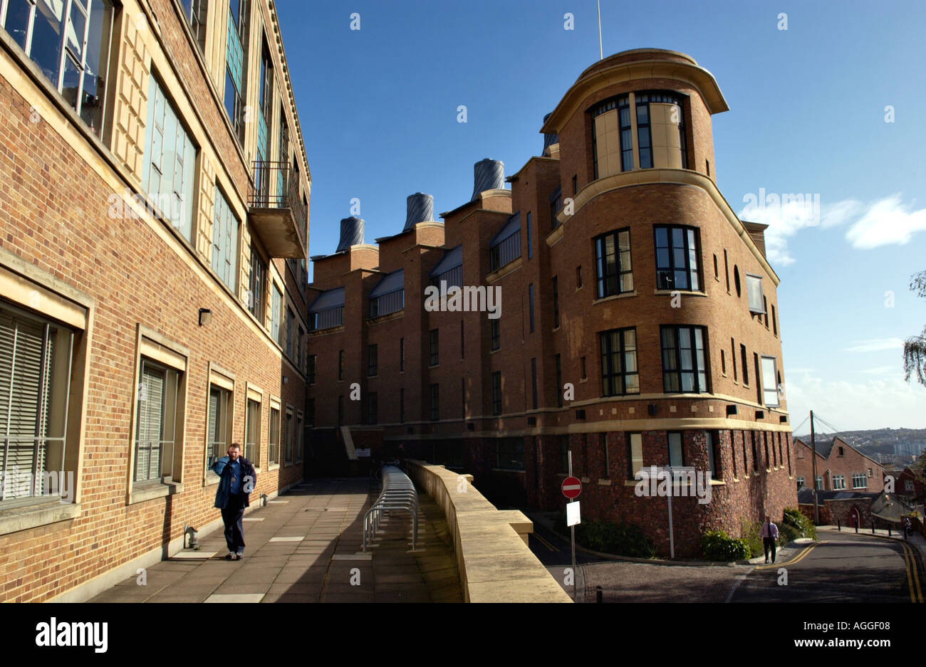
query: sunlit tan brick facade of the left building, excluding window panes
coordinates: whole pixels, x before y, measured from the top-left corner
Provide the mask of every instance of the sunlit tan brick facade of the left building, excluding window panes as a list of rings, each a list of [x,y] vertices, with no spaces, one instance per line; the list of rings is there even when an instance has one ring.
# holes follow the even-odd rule
[[[259,35],[267,31],[272,36],[276,18],[266,1],[252,6],[245,68],[255,88]],[[209,37],[211,46],[224,40],[226,22],[212,16],[218,6],[210,12],[209,25],[220,27]],[[49,294],[50,303],[69,304],[84,315],[74,329],[70,376],[52,379],[53,384],[70,381],[65,470],[76,471],[76,496],[65,510],[47,498],[10,500],[7,495],[0,501],[0,600],[46,600],[79,587],[90,591],[94,578],[119,566],[180,549],[185,525],[203,528],[219,519],[213,508],[218,478],[206,470],[210,372],[233,383],[228,441],[244,446],[246,400],[261,404],[252,499],[274,495],[304,476],[298,451],[304,438],[295,429],[305,410],[306,377],[298,356],[287,358],[285,346],[271,338],[269,285],[281,289],[283,311],[292,308],[304,330],[307,289],[298,284],[291,263],[268,256],[262,247],[267,232],[257,233],[246,202],[256,138],[248,134],[244,148],[236,145],[221,93],[214,94],[212,73],[203,67],[182,21],[180,4],[168,0],[144,5],[128,0],[116,12],[112,62],[119,67],[107,81],[108,94],[116,98],[106,98],[115,112],[102,139],[89,133],[0,30],[0,106],[5,110],[0,171],[6,175],[0,184],[0,278],[26,295],[17,298],[4,291],[0,307],[55,323],[54,312],[36,307],[38,297],[35,302],[28,298],[30,293]],[[284,71],[282,45],[271,51],[276,71]],[[219,74],[224,68],[224,56],[206,62]],[[136,204],[147,202],[141,188],[144,120],[155,69],[199,151],[196,173],[190,176],[199,188],[189,239],[140,206],[134,206],[138,215],[130,215],[131,204],[122,205],[126,191]],[[289,119],[291,159],[295,156],[303,166],[300,187],[307,196],[306,157],[288,85],[288,78],[277,81],[275,104]],[[210,263],[211,196],[217,184],[241,225],[232,249],[239,270],[231,288]],[[269,265],[262,321],[248,308],[252,248]],[[305,258],[305,247],[301,252]],[[211,322],[200,325],[203,308],[211,311]],[[146,484],[133,482],[131,470],[142,391],[137,387],[139,358],[149,353],[143,344],[152,354],[184,364],[179,421],[173,422],[179,430],[172,476]],[[8,355],[5,341],[0,360]],[[283,453],[280,465],[269,462],[271,405],[279,406],[282,423],[288,409],[294,415],[293,460],[285,461]]]

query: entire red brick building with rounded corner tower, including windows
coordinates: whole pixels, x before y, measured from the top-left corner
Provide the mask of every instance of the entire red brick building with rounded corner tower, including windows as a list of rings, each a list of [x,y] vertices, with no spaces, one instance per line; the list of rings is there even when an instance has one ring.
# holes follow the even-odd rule
[[[497,504],[552,509],[571,451],[583,518],[640,525],[662,553],[667,502],[638,497],[635,476],[694,469],[711,500],[673,501],[681,555],[796,506],[779,278],[764,227],[717,186],[710,117],[727,109],[689,56],[609,56],[544,119],[543,154],[507,179],[477,163],[443,223],[420,194],[376,245],[342,221],[338,251],[312,258],[317,459],[345,436],[374,456],[401,443]],[[500,316],[452,293],[434,308],[441,283]]]

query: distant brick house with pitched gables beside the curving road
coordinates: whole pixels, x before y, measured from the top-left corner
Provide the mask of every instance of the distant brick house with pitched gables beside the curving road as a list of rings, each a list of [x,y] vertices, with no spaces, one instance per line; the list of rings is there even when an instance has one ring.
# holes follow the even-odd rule
[[[813,461],[810,445],[795,438],[797,487],[813,488]],[[858,451],[841,438],[817,442],[816,487],[825,491],[852,490],[881,493],[884,469],[881,463]],[[898,489],[898,492],[901,492]]]

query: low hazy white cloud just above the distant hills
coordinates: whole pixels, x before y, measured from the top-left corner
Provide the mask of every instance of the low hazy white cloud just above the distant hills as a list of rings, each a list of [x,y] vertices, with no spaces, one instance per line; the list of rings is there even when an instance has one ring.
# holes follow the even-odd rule
[[[906,382],[901,364],[895,366],[893,374],[860,381],[792,372],[785,382],[785,399],[793,426],[813,410],[839,429],[926,428],[926,388],[912,378]],[[809,426],[802,426],[801,432],[807,431]]]

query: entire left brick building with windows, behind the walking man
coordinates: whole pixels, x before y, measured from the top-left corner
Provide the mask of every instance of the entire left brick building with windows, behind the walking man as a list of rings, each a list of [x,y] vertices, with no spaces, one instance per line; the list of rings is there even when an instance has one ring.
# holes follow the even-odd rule
[[[309,171],[268,0],[2,8],[0,600],[88,599],[303,478]]]

